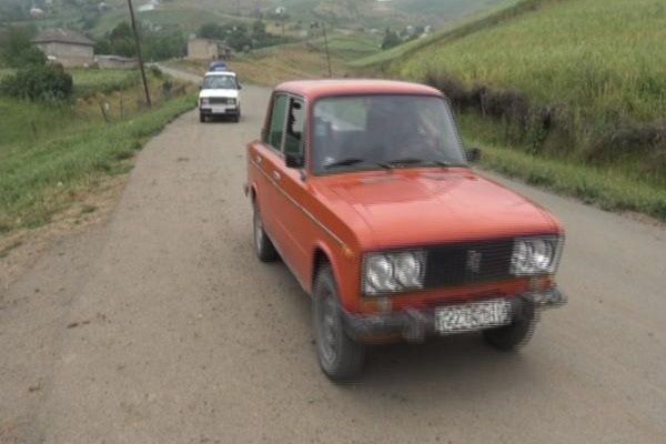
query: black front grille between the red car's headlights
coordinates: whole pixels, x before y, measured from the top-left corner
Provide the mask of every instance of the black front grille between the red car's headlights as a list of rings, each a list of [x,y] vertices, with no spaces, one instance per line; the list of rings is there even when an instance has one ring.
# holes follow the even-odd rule
[[[430,248],[425,289],[465,285],[511,278],[513,239]]]

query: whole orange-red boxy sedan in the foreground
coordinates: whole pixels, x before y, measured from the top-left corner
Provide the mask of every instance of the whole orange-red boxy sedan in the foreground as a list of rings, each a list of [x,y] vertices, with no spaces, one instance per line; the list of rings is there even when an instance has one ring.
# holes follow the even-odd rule
[[[356,375],[366,344],[483,331],[513,350],[543,307],[564,230],[477,175],[432,88],[379,80],[283,83],[248,147],[254,248],[313,300],[319,362]]]

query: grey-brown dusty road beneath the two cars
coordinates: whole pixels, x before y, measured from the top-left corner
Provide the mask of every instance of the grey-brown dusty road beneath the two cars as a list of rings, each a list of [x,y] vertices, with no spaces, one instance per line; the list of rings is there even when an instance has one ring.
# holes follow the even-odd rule
[[[569,304],[517,354],[392,345],[330,383],[306,295],[251,248],[268,97],[245,88],[240,124],[176,120],[104,225],[0,285],[1,443],[666,442],[666,230],[508,181],[567,228]]]

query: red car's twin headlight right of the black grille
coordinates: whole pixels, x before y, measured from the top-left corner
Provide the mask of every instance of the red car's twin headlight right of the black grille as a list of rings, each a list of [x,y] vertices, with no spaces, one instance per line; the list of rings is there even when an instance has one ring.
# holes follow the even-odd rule
[[[516,276],[555,273],[562,244],[557,236],[515,239],[511,273]]]

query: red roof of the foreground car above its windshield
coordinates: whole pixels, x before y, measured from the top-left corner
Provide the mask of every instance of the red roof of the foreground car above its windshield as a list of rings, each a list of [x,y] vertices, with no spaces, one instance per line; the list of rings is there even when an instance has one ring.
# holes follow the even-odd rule
[[[335,95],[414,94],[444,97],[441,91],[420,83],[380,79],[297,80],[284,82],[275,91],[301,95],[307,100]]]

